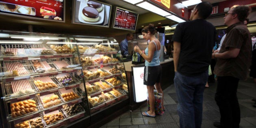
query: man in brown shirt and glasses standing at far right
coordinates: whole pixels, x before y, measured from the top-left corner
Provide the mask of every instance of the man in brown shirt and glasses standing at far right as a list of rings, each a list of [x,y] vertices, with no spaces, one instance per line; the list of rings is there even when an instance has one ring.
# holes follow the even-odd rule
[[[231,7],[223,18],[228,26],[226,38],[219,52],[212,54],[212,58],[217,59],[214,69],[214,74],[218,76],[215,101],[221,119],[214,126],[218,128],[239,128],[240,108],[236,91],[239,80],[247,78],[252,55],[252,39],[243,24],[249,11],[247,6]]]

